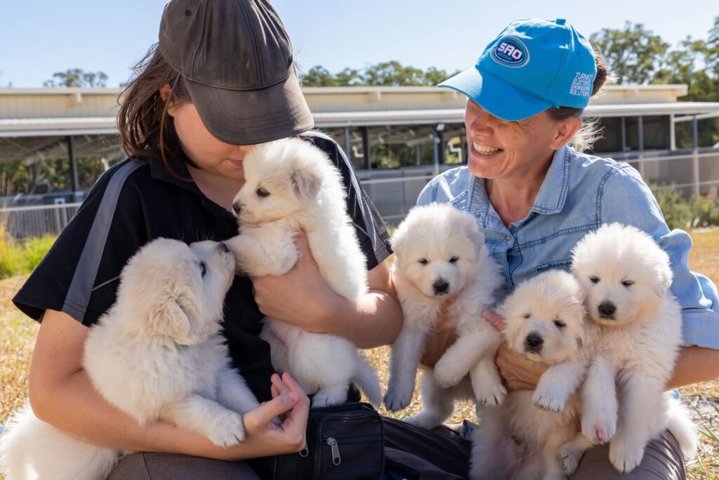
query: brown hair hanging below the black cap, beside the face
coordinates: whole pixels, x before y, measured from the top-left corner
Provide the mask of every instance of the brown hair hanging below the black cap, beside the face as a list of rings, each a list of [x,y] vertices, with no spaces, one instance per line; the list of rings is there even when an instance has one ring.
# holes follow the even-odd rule
[[[180,140],[173,117],[168,115],[170,101],[191,101],[185,81],[162,57],[157,44],[132,68],[134,76],[118,97],[117,129],[127,155],[143,160],[161,158],[168,166],[168,156],[180,152]],[[169,85],[170,99],[163,101],[160,88]],[[174,175],[174,173],[173,173]]]

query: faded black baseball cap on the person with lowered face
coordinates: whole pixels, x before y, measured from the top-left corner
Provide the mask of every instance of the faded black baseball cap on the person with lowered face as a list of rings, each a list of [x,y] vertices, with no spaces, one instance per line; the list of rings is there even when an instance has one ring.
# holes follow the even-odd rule
[[[290,38],[265,0],[172,0],[162,13],[160,52],[223,142],[252,145],[314,126]]]

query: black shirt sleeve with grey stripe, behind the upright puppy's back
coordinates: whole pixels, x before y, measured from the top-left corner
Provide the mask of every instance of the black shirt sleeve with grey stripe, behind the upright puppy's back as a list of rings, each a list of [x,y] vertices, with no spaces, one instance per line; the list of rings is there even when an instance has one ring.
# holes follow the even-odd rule
[[[367,258],[367,270],[372,270],[392,253],[385,222],[359,184],[352,164],[339,145],[320,132],[308,132],[303,138],[323,150],[342,173],[342,183],[347,190],[347,214],[352,218],[359,245]]]

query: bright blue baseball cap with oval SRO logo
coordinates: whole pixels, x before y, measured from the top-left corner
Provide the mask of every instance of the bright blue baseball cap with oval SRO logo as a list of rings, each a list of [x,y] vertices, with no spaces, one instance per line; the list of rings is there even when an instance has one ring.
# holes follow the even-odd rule
[[[472,68],[439,84],[503,120],[551,107],[587,107],[597,65],[592,46],[564,19],[523,19],[485,47]]]

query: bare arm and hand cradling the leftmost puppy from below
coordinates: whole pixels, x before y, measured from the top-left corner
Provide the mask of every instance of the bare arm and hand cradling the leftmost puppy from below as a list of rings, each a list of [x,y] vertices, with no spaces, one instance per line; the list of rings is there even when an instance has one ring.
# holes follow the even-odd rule
[[[288,376],[273,376],[275,398],[244,415],[247,439],[219,448],[207,438],[170,422],[139,423],[106,402],[94,389],[81,359],[88,327],[68,314],[48,310],[40,327],[29,375],[35,415],[75,438],[124,450],[183,453],[241,460],[301,450],[309,400]],[[286,412],[281,427],[270,423]]]

